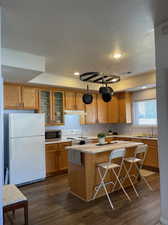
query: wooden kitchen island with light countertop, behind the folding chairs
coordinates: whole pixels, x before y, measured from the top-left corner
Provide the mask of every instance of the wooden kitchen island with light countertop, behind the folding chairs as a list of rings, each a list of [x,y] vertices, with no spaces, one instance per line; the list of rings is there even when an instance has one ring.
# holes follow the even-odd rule
[[[142,143],[130,141],[112,141],[103,146],[98,144],[85,144],[68,146],[68,177],[70,192],[85,201],[91,201],[95,188],[100,183],[100,178],[97,173],[96,165],[102,162],[107,162],[109,154],[115,149],[125,148],[126,156],[132,156],[135,148]],[[117,159],[118,160],[118,159]],[[128,165],[127,165],[128,166]],[[135,174],[133,169],[131,174]],[[121,176],[125,175],[125,171],[121,172]],[[106,182],[114,180],[112,173],[107,176]],[[137,182],[137,181],[135,181]],[[129,180],[124,182],[124,186],[130,186]],[[118,190],[119,186],[116,185]],[[112,191],[112,185],[107,185],[108,192]],[[97,198],[105,195],[102,189]]]

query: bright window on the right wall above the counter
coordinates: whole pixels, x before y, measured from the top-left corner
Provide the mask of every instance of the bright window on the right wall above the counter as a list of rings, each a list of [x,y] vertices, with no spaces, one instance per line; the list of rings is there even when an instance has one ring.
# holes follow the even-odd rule
[[[156,99],[133,103],[134,124],[157,125]]]

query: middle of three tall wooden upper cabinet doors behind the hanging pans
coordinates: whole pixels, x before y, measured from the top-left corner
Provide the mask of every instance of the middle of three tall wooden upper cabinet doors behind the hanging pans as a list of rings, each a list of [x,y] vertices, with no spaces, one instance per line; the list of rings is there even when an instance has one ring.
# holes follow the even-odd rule
[[[98,114],[98,122],[99,123],[107,123],[107,106],[108,103],[104,102],[101,95],[97,97],[97,114]]]

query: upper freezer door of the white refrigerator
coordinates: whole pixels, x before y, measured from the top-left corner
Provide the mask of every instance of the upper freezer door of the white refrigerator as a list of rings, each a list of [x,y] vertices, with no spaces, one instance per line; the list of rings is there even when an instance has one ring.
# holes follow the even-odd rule
[[[32,137],[45,134],[44,114],[9,114],[9,138]]]

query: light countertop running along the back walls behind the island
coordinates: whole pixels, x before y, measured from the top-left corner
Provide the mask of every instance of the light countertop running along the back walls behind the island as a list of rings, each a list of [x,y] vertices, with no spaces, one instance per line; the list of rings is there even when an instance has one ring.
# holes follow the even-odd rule
[[[145,136],[135,136],[135,135],[108,135],[107,138],[119,137],[119,138],[135,138],[135,139],[147,139],[147,140],[158,140],[157,137],[145,137]],[[97,139],[96,136],[87,136],[87,140],[94,140]],[[67,137],[63,137],[61,139],[48,139],[45,140],[45,144],[56,144],[56,143],[63,143],[63,142],[71,142],[73,140],[68,139]],[[76,142],[79,140],[76,140]]]

